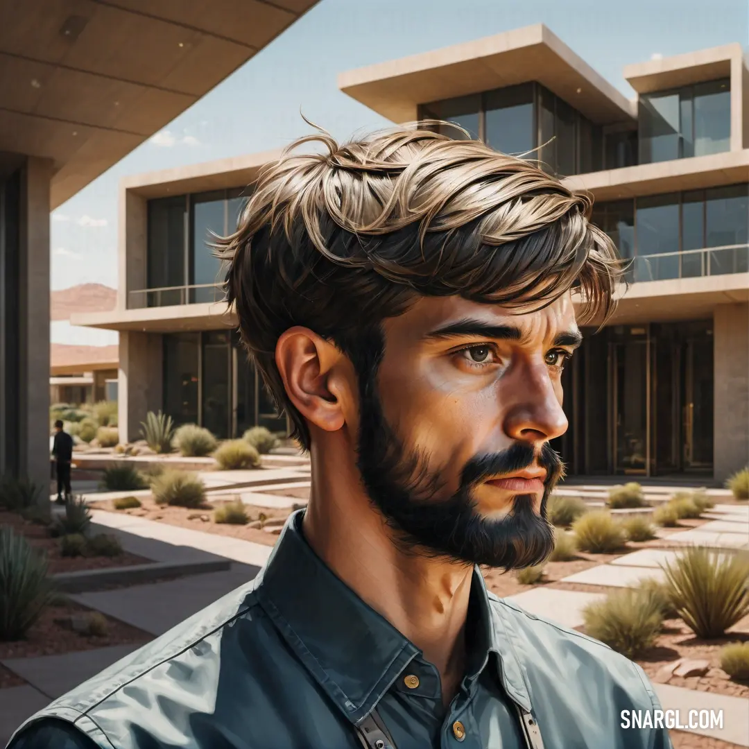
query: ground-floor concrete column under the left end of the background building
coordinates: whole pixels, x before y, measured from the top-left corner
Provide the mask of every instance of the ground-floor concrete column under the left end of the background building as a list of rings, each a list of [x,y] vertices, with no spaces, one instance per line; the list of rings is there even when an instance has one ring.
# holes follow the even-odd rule
[[[148,411],[163,407],[163,340],[159,333],[120,333],[118,428],[121,442],[141,439]]]

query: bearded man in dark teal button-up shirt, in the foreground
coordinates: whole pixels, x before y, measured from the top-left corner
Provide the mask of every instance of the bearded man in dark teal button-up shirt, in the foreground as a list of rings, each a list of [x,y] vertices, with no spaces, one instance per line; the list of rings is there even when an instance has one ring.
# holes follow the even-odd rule
[[[554,544],[573,299],[604,319],[619,279],[589,198],[480,142],[311,141],[219,243],[243,341],[310,452],[309,506],[256,580],[13,749],[669,747],[620,728],[658,707],[637,665],[488,595],[477,568]]]

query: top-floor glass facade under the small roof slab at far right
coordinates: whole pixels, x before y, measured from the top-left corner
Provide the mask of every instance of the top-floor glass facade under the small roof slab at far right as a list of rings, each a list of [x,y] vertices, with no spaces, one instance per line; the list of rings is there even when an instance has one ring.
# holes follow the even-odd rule
[[[638,119],[641,164],[728,151],[730,79],[643,94]]]

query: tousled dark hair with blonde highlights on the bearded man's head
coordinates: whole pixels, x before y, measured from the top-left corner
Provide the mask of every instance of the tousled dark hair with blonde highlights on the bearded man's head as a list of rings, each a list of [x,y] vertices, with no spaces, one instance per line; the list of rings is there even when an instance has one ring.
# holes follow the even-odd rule
[[[321,151],[297,152],[312,142]],[[621,268],[591,207],[482,142],[398,127],[339,145],[319,132],[267,165],[216,246],[243,342],[309,448],[276,369],[285,330],[309,327],[357,366],[363,345],[382,345],[383,319],[419,295],[530,312],[572,290],[583,319],[605,319]]]

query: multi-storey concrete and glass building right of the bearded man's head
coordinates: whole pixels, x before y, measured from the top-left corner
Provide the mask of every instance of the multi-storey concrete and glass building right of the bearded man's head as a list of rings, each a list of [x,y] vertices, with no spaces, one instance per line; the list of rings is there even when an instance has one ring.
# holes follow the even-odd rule
[[[747,65],[739,43],[633,64],[628,100],[535,25],[339,76],[395,122],[539,148],[594,196],[631,285],[565,371],[572,474],[721,482],[749,464]]]

